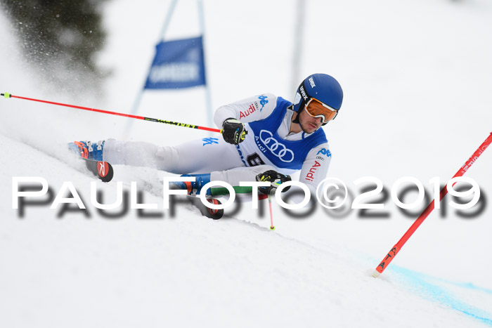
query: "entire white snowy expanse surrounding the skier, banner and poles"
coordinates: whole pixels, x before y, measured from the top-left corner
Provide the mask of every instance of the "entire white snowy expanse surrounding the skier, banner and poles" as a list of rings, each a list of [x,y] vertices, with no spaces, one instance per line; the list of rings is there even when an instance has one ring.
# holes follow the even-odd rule
[[[0,91],[129,112],[169,3],[105,4],[108,41],[98,60],[114,74],[103,97],[60,93],[40,80],[0,13]],[[303,44],[294,45],[295,1],[205,1],[213,107],[266,92],[292,101],[292,49],[299,46],[302,77],[331,74],[344,90],[339,116],[324,128],[330,176],[355,195],[361,186],[354,181],[364,176],[387,188],[414,176],[427,190],[431,178],[451,178],[492,131],[492,4],[306,6]],[[167,39],[199,33],[195,1],[181,1]],[[146,92],[138,114],[208,124],[201,87]],[[139,218],[136,210],[105,218],[90,203],[94,179],[71,165],[66,143],[123,138],[129,119],[18,99],[0,99],[0,117],[0,327],[492,326],[488,204],[468,219],[449,207],[444,217],[434,210],[375,279],[373,269],[413,222],[391,200],[382,210],[389,217],[379,219],[358,210],[335,218],[319,206],[292,218],[274,204],[275,231],[250,203],[219,221],[186,204],[174,217],[160,209],[162,218]],[[129,138],[171,145],[208,136],[135,121]],[[488,203],[491,166],[486,150],[466,173]],[[49,204],[28,206],[20,218],[12,209],[13,176],[46,178],[55,194],[71,181],[90,218],[58,218]],[[162,207],[162,176],[171,175],[115,165],[114,180],[97,187],[112,202],[118,181],[125,190],[136,181],[145,202]]]

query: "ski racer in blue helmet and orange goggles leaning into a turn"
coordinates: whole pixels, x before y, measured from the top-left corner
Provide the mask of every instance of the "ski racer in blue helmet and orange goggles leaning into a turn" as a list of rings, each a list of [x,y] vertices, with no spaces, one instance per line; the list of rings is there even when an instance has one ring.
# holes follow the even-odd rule
[[[209,181],[233,186],[240,181],[269,181],[270,186],[259,190],[271,194],[299,170],[299,181],[314,193],[331,160],[321,126],[335,119],[342,99],[336,79],[312,74],[297,88],[293,104],[265,93],[219,107],[214,122],[222,128],[223,138],[176,146],[113,139],[96,144],[76,141],[69,146],[89,159],[195,176],[195,182],[181,183],[189,195],[200,193]]]

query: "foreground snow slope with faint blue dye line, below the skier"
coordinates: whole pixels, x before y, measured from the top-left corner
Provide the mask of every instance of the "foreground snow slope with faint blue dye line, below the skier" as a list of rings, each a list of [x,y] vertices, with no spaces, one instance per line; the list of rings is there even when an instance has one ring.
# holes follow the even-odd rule
[[[70,177],[89,199],[87,173],[6,137],[0,144],[15,159],[3,163],[2,181],[30,172],[58,192]],[[115,167],[120,175],[128,170]],[[115,197],[114,182],[98,182],[98,189],[108,202]],[[47,206],[27,207],[19,218],[6,204],[11,197],[1,196],[5,327],[492,324],[484,308],[491,290],[396,266],[375,280],[373,263],[341,244],[287,237],[236,218],[212,221],[186,206],[174,218],[110,219],[93,207],[90,218],[57,218]],[[145,201],[160,197],[147,191]]]

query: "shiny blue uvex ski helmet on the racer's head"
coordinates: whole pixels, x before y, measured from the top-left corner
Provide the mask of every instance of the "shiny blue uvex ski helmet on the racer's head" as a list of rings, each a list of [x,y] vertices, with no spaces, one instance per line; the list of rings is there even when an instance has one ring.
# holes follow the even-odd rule
[[[321,101],[335,110],[342,106],[344,93],[338,81],[328,74],[312,74],[302,81],[294,98],[294,111],[304,109],[304,105],[311,99]],[[328,122],[323,123],[327,124]]]

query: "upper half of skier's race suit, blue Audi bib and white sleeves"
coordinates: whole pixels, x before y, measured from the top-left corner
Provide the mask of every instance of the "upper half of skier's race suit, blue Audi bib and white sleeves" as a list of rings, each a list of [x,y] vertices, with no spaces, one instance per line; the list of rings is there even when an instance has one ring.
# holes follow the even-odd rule
[[[219,107],[214,122],[221,126],[229,117],[244,122],[248,134],[235,146],[243,166],[266,164],[276,171],[301,171],[299,181],[316,190],[328,173],[331,153],[323,129],[306,134],[289,133],[292,103],[266,93]]]

